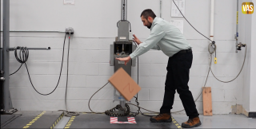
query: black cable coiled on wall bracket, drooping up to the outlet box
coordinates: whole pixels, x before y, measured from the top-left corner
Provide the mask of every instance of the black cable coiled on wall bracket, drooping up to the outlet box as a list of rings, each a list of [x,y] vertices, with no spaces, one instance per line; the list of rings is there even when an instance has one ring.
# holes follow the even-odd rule
[[[63,66],[63,59],[64,59],[64,49],[65,49],[65,41],[66,41],[66,35],[65,35],[65,38],[64,38],[64,43],[63,43],[63,50],[62,50],[62,66]],[[18,57],[18,54],[17,54],[17,49],[20,49],[19,51],[19,57]],[[16,60],[19,62],[19,63],[22,63],[22,64],[25,64],[26,66],[26,71],[28,73],[28,76],[29,76],[29,79],[30,79],[30,84],[32,85],[32,87],[34,88],[34,84],[32,83],[32,80],[30,78],[30,72],[29,72],[29,69],[26,65],[26,61],[28,60],[28,57],[29,57],[29,50],[26,49],[26,47],[17,47],[14,49],[14,55],[15,55],[15,58]],[[59,77],[58,77],[58,83],[56,85],[56,87],[54,88],[54,90],[50,93],[47,93],[47,94],[42,94],[41,92],[38,92],[38,90],[36,88],[34,88],[34,90],[36,92],[38,92],[38,94],[42,95],[42,96],[48,96],[50,94],[52,94],[56,88],[58,88],[58,84],[59,84],[59,80],[62,76],[62,66],[61,66],[61,70],[60,70],[60,73],[59,73]]]

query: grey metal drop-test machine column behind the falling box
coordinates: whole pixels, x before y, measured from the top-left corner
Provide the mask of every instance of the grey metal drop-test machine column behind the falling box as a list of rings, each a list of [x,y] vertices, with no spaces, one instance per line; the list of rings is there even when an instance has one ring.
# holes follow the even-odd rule
[[[114,72],[118,68],[123,68],[131,76],[131,66],[136,65],[136,59],[128,62],[127,65],[124,65],[124,61],[115,60],[117,57],[128,57],[136,49],[136,45],[133,44],[130,37],[131,30],[129,31],[130,22],[127,19],[127,0],[122,0],[121,5],[121,20],[118,21],[118,37],[115,38],[113,45],[110,45],[110,66],[114,66]],[[126,100],[123,96],[118,95],[117,90],[114,88],[114,101],[120,101],[121,109],[118,109],[118,114],[125,114],[126,109]]]

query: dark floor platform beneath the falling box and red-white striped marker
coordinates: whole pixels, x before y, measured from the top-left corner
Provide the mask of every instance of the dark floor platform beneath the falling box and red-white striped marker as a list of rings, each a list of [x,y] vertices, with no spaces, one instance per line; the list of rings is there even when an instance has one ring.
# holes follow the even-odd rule
[[[80,114],[71,117],[65,128],[182,128],[174,118],[172,123],[151,123],[144,115],[135,116],[135,123],[128,123],[127,117],[118,117],[121,123],[110,123],[110,118],[105,114]]]

